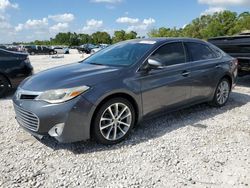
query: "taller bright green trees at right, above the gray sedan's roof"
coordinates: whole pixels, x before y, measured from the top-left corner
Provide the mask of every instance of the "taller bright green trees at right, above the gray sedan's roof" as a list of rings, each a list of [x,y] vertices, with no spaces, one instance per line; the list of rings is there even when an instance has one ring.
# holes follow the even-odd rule
[[[250,30],[250,12],[237,14],[231,11],[203,15],[183,28],[153,29],[150,37],[192,37],[207,40],[211,37],[231,36]]]

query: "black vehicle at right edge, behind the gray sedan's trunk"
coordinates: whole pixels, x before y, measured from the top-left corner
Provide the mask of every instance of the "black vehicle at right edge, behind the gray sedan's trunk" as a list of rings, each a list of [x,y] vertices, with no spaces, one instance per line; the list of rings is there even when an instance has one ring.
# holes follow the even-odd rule
[[[208,40],[239,61],[239,75],[250,74],[250,33]]]

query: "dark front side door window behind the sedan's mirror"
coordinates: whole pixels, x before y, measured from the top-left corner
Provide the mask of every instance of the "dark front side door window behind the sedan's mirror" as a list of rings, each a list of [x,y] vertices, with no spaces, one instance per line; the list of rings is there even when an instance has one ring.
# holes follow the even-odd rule
[[[151,56],[164,66],[181,64],[186,62],[186,56],[182,43],[170,43],[160,47]]]

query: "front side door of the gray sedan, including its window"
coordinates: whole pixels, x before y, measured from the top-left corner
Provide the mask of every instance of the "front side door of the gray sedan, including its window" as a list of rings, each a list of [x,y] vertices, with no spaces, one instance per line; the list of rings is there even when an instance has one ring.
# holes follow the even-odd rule
[[[185,104],[190,97],[191,80],[183,43],[168,43],[150,58],[164,67],[141,75],[144,114]]]

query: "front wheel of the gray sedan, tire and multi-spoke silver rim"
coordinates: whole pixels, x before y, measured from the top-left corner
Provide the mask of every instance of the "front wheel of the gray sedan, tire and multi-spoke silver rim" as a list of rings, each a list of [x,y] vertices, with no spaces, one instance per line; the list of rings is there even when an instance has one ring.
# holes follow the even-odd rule
[[[96,142],[113,145],[124,140],[131,132],[135,124],[135,109],[128,100],[114,98],[104,103],[94,118],[92,133]]]

